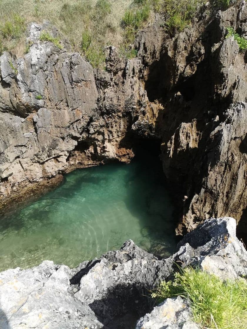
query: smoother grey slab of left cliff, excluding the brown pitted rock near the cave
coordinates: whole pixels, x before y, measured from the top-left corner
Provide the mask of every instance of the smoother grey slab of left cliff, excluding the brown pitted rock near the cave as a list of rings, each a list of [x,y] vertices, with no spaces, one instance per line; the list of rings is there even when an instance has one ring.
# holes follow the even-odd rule
[[[34,44],[25,58],[14,61],[8,53],[0,58],[2,197],[20,183],[25,187],[66,171],[71,151],[97,115],[91,65],[79,54],[37,42],[40,30],[31,26]]]

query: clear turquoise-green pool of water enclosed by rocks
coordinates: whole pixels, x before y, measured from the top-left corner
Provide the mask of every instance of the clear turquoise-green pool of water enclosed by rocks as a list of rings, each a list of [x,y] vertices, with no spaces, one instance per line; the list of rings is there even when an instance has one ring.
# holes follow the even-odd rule
[[[0,269],[53,260],[75,267],[132,239],[174,252],[172,205],[159,159],[78,169],[56,190],[0,218]]]

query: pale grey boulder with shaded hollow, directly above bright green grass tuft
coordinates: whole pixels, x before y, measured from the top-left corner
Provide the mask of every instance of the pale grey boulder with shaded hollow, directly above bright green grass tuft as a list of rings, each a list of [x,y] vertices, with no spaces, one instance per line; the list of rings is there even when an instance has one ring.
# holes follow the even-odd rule
[[[222,279],[247,275],[247,252],[236,237],[232,217],[206,219],[178,243],[176,261],[183,266],[199,264]]]

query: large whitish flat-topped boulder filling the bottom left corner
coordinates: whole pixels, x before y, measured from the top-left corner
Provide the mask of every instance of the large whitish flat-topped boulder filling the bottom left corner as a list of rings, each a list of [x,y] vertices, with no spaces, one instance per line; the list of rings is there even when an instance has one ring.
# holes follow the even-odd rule
[[[68,266],[44,261],[0,274],[0,327],[102,328],[91,308],[69,291]]]

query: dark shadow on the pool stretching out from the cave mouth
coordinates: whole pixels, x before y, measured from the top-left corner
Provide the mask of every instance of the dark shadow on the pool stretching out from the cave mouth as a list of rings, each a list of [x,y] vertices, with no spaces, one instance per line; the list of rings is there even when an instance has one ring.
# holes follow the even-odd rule
[[[145,239],[153,241],[147,251],[168,257],[176,247],[174,239],[176,222],[168,192],[162,163],[159,157],[159,141],[140,141],[137,144],[135,170],[126,183],[128,195],[124,199],[132,215],[139,218],[142,228],[142,247]],[[164,242],[166,240],[166,242]],[[159,242],[160,241],[160,242]]]

